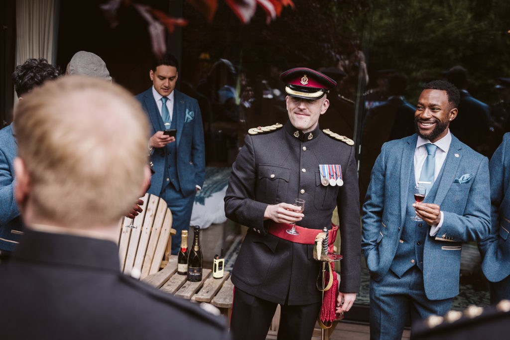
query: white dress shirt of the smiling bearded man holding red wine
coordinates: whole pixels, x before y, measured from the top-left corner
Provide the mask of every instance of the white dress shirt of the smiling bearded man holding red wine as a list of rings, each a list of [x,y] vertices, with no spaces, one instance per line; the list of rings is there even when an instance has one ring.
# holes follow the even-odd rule
[[[418,180],[421,175],[421,168],[423,167],[423,163],[425,163],[425,159],[427,158],[427,149],[425,148],[425,144],[430,143],[429,140],[421,138],[418,136],[418,141],[416,141],[416,148],[414,153],[414,168],[415,168],[415,182],[418,185]],[[450,129],[448,129],[448,133],[445,137],[436,141],[435,143],[431,143],[437,145],[436,150],[436,164],[434,166],[434,180],[438,178],[439,172],[441,171],[441,167],[446,160],[446,155],[448,154],[448,150],[450,149],[451,144],[451,134]],[[443,212],[440,212],[441,220],[438,225],[430,226],[430,236],[436,236],[439,232],[439,229],[443,225]]]

